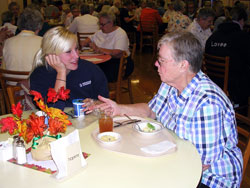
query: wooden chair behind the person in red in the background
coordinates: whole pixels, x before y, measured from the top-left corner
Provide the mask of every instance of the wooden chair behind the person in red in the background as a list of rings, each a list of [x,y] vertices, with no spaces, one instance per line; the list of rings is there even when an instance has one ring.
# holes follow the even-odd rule
[[[155,21],[140,21],[140,52],[144,46],[152,46],[153,55],[156,54],[158,42],[158,24]]]

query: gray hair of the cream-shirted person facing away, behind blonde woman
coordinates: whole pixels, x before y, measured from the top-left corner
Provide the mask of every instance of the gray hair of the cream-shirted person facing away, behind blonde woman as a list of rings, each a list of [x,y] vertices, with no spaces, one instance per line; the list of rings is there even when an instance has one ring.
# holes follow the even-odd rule
[[[35,32],[42,28],[43,16],[38,10],[26,8],[19,16],[17,25],[20,30],[31,30]]]

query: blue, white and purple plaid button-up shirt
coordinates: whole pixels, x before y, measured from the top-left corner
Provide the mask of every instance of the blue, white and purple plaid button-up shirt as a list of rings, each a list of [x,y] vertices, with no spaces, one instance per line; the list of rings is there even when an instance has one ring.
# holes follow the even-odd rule
[[[157,120],[180,138],[192,142],[202,164],[202,183],[209,187],[239,187],[242,154],[233,107],[224,92],[201,71],[178,96],[175,88],[162,83],[149,102]]]

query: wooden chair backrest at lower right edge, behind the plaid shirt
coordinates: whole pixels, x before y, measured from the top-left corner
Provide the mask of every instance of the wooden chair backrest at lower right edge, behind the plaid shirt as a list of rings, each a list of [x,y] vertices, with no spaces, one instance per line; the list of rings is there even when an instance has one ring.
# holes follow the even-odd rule
[[[238,147],[243,154],[243,174],[244,178],[246,167],[250,156],[250,118],[241,114],[235,113],[238,129]]]

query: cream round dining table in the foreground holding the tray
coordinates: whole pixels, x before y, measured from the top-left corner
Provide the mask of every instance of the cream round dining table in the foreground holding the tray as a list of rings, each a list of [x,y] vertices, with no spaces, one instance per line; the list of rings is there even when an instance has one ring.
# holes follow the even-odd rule
[[[28,112],[25,112],[27,116]],[[5,116],[0,116],[0,118]],[[90,154],[87,166],[77,174],[58,181],[50,174],[0,161],[1,188],[195,188],[201,178],[202,164],[194,145],[172,131],[177,150],[158,157],[142,157],[102,148],[91,136],[98,129],[97,117],[71,118],[67,132],[79,130],[83,152]],[[0,141],[7,140],[0,134]],[[28,146],[27,146],[28,147]]]

